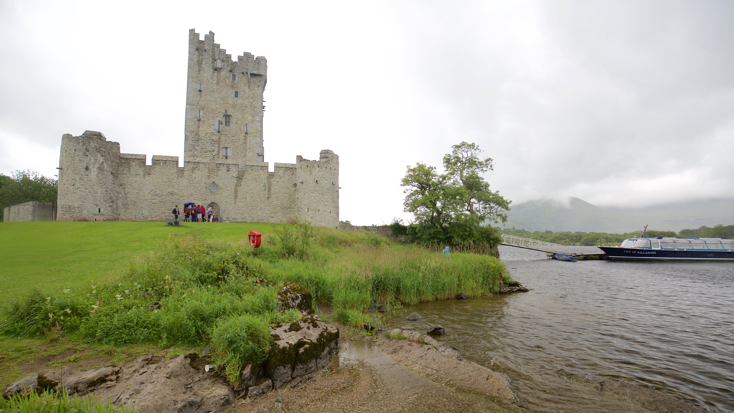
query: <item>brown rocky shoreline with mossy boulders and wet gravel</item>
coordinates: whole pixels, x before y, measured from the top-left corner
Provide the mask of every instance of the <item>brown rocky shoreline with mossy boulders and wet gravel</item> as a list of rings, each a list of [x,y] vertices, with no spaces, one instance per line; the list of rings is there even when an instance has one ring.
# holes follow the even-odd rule
[[[527,289],[519,283],[501,286],[501,293],[523,291]],[[523,411],[509,377],[465,360],[456,348],[432,337],[445,334],[442,326],[425,333],[405,326],[388,328],[379,337],[346,328],[348,334],[339,340],[339,329],[313,314],[310,293],[303,287],[287,283],[279,298],[279,309],[299,309],[303,316],[273,328],[268,361],[244,367],[237,388],[219,374],[221,368],[206,364],[206,354],[186,353],[171,359],[146,355],[120,366],[76,373],[36,373],[10,384],[3,397],[64,388],[135,406],[141,413],[325,412],[350,406],[373,412],[437,407],[444,412]],[[405,318],[410,322],[421,315]],[[377,334],[383,328],[375,323],[366,330]],[[699,412],[664,392],[624,381],[585,380],[641,411]]]

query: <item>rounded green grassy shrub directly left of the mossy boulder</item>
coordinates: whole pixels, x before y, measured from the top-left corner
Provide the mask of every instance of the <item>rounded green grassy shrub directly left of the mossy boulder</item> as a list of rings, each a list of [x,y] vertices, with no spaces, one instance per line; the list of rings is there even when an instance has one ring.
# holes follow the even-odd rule
[[[222,318],[211,334],[214,362],[225,366],[225,376],[232,384],[239,382],[242,367],[264,362],[271,345],[268,320],[254,315]]]

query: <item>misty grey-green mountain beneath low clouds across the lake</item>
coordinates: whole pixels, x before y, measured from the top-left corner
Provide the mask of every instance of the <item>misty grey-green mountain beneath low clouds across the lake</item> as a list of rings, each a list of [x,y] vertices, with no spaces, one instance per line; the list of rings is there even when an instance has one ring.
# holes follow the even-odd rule
[[[700,226],[734,224],[734,198],[685,201],[644,208],[600,208],[579,198],[567,204],[553,200],[513,204],[504,225],[528,231],[598,231],[622,234],[648,229],[680,231]]]

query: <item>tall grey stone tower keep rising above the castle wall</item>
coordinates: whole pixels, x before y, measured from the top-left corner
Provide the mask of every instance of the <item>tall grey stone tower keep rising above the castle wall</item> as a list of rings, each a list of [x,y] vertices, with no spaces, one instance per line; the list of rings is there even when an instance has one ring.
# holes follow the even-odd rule
[[[246,52],[233,62],[232,55],[214,43],[213,32],[199,40],[192,29],[188,73],[184,161],[263,162],[265,58]],[[230,116],[229,126],[225,112]],[[222,154],[222,148],[230,148],[231,154]]]

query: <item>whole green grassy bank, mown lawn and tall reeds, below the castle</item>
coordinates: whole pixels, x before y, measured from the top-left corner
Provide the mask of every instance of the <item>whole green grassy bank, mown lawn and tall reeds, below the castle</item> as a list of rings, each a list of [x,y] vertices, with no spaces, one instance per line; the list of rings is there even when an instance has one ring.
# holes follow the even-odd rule
[[[257,252],[252,229],[264,235]],[[194,348],[236,384],[266,359],[270,328],[302,317],[277,309],[286,281],[333,309],[324,316],[363,328],[382,317],[368,313],[373,301],[492,295],[508,280],[492,256],[305,223],[1,223],[0,248],[0,387],[62,363],[86,370]]]

